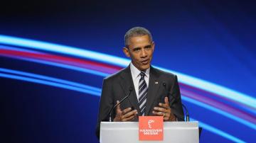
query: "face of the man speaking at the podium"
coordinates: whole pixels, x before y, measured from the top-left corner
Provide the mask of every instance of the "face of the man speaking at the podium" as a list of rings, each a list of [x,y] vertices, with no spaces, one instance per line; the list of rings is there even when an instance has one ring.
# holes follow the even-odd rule
[[[129,39],[129,48],[123,48],[124,54],[131,57],[132,64],[139,70],[150,67],[154,52],[154,42],[150,41],[149,35],[136,36]]]

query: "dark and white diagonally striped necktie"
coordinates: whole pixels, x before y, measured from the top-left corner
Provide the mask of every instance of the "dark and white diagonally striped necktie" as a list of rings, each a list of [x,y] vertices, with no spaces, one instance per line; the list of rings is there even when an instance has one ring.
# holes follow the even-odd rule
[[[140,73],[141,79],[139,79],[139,109],[142,113],[142,115],[145,115],[146,110],[146,94],[148,91],[148,88],[146,86],[146,81],[144,79],[144,76],[146,74],[142,71]]]

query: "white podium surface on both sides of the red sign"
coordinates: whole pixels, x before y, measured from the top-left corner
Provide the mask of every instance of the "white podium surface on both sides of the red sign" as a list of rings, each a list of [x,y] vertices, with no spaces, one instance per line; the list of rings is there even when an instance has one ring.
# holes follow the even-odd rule
[[[164,122],[163,141],[139,141],[139,122],[101,122],[101,143],[198,143],[198,122]]]

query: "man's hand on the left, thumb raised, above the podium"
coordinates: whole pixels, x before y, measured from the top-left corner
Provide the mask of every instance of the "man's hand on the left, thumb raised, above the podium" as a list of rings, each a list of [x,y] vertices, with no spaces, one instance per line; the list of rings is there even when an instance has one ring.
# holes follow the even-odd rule
[[[119,101],[117,101],[119,103]],[[137,110],[132,110],[132,108],[126,108],[121,110],[120,104],[117,105],[117,115],[114,118],[114,122],[125,122],[133,120],[138,114]]]

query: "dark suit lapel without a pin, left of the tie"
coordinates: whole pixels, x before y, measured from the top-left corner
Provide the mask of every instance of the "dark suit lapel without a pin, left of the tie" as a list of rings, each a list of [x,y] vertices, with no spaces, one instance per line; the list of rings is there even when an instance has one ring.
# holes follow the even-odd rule
[[[132,93],[129,96],[128,100],[129,100],[129,103],[131,103],[132,106],[138,111],[138,114],[141,115],[141,113],[139,112],[139,103],[136,96],[134,83],[132,81],[132,73],[129,66],[125,68],[124,71],[122,72],[119,84],[121,85],[125,95],[129,94],[129,88],[132,87]]]

